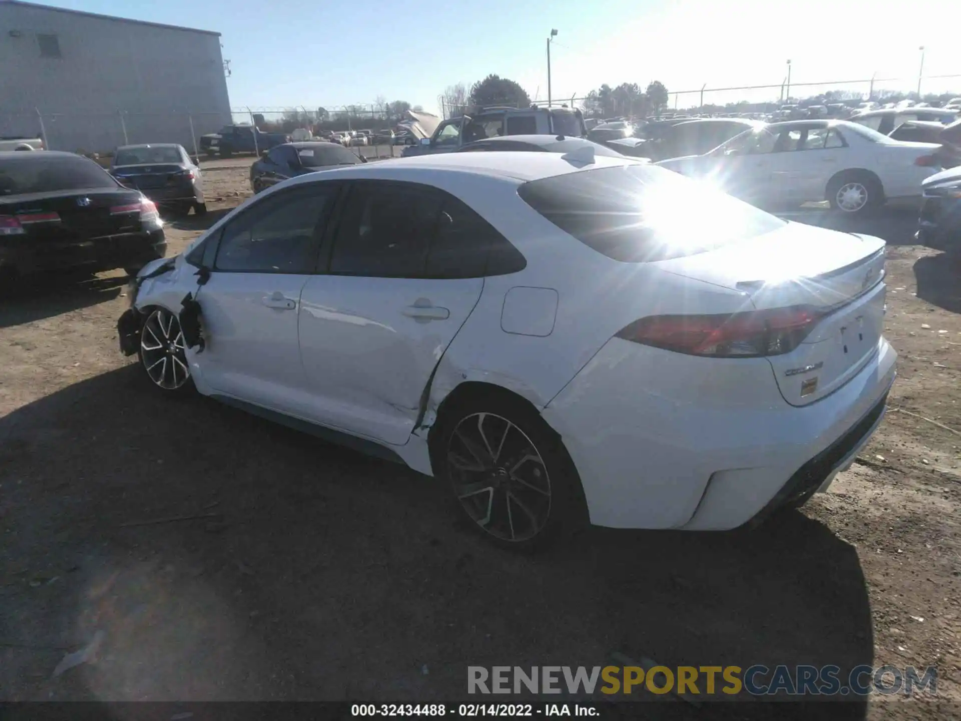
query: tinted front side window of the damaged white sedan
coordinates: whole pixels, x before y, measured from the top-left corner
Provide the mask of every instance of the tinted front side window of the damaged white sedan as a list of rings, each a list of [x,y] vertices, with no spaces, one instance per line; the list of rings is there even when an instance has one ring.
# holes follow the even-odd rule
[[[317,260],[337,187],[312,184],[264,198],[227,224],[214,269],[244,273],[306,274]]]

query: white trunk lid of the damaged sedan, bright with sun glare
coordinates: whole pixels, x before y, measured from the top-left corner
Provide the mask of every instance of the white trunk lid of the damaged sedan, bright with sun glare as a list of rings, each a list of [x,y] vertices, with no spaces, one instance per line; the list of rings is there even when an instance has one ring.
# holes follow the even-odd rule
[[[816,314],[798,348],[768,357],[784,400],[793,406],[846,384],[876,353],[885,302],[879,238],[788,223],[774,233],[656,265],[739,290],[757,310],[805,306]]]

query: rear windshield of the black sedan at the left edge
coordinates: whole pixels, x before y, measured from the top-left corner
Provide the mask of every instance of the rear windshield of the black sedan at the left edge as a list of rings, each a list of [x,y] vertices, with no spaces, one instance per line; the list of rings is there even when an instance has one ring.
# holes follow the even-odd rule
[[[106,170],[86,158],[42,152],[22,155],[25,157],[0,161],[0,196],[117,187]]]

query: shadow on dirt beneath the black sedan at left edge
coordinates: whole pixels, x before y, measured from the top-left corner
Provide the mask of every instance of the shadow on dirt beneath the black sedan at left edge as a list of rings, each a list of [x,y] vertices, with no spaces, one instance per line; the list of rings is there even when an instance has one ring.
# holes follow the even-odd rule
[[[108,278],[37,275],[24,278],[0,301],[0,328],[10,328],[113,300],[129,278],[123,271]]]

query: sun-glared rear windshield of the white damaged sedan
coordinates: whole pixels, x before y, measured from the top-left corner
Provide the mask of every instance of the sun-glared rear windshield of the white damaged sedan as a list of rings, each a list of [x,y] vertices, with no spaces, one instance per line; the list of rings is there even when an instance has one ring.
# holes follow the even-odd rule
[[[530,181],[521,198],[562,231],[615,261],[683,258],[785,221],[651,165],[619,165]]]

